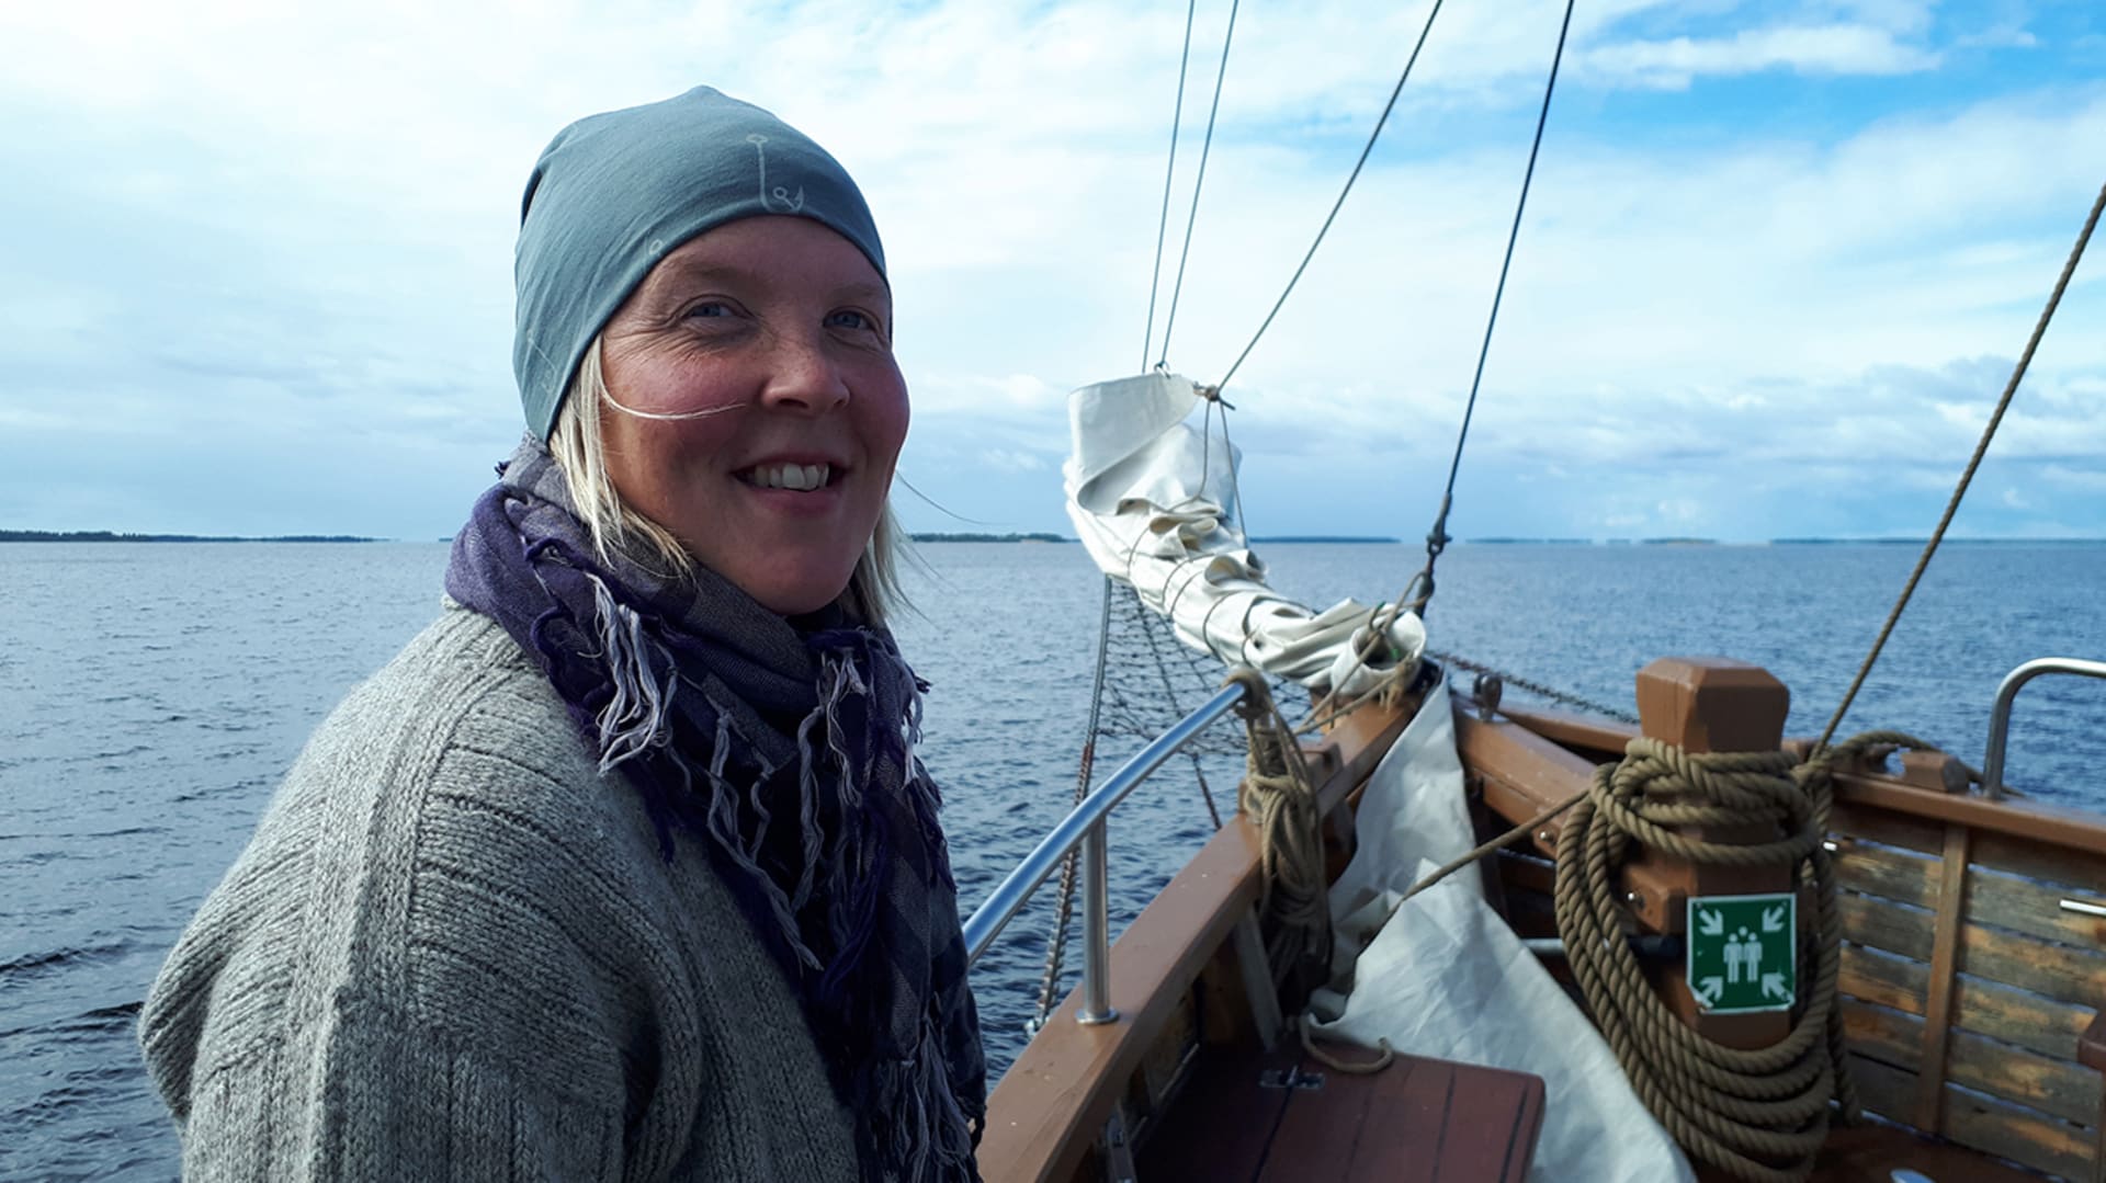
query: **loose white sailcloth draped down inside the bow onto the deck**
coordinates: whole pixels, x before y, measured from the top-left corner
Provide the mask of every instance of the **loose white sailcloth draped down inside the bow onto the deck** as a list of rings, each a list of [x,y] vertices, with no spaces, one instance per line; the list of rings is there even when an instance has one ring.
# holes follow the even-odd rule
[[[1390,747],[1331,886],[1333,981],[1310,998],[1318,1036],[1544,1078],[1531,1183],[1689,1183],[1689,1160],[1645,1109],[1615,1052],[1485,903],[1474,869],[1398,899],[1472,848],[1447,686]],[[1392,914],[1394,909],[1394,914]]]

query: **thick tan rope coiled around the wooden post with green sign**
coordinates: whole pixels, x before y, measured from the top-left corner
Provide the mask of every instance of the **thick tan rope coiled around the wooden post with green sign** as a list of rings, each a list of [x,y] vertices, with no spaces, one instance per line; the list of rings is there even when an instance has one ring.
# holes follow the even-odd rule
[[[1632,739],[1622,764],[1594,773],[1558,836],[1558,935],[1594,1025],[1668,1132],[1735,1179],[1805,1179],[1828,1137],[1828,1103],[1845,1120],[1857,1116],[1834,1002],[1843,922],[1822,840],[1832,768],[1876,745],[1925,747],[1902,733],[1866,733],[1794,766],[1782,751],[1691,756]],[[1771,823],[1780,838],[1740,846],[1676,831],[1748,823]],[[1815,886],[1815,941],[1805,958],[1813,985],[1784,1042],[1729,1048],[1668,1010],[1624,930],[1617,869],[1634,846],[1708,865],[1788,865]]]

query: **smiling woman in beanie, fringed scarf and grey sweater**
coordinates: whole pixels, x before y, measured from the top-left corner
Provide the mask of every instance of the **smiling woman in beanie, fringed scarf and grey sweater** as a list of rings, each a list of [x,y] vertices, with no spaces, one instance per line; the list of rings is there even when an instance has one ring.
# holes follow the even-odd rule
[[[543,152],[529,436],[141,1012],[194,1179],[973,1179],[876,225],[697,88]]]

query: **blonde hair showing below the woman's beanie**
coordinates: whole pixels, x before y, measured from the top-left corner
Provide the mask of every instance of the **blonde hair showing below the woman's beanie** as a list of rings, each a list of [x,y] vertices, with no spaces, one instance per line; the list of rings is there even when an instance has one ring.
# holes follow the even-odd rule
[[[577,362],[577,377],[564,392],[562,408],[556,413],[556,425],[548,438],[548,450],[571,484],[577,520],[592,535],[592,549],[602,562],[613,562],[615,554],[621,554],[632,562],[655,566],[661,575],[693,579],[695,556],[687,554],[672,530],[621,501],[615,480],[607,474],[600,410],[609,400],[607,375],[600,368],[600,339],[594,337]],[[882,627],[885,617],[906,604],[906,596],[899,592],[901,541],[899,522],[893,518],[891,501],[887,501],[878,514],[878,526],[863,547],[863,558],[855,562],[849,587],[840,594],[842,608],[868,625]]]

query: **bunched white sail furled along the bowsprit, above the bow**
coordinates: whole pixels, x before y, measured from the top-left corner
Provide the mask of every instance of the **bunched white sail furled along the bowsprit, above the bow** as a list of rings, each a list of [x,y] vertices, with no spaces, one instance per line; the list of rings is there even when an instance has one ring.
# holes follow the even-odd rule
[[[1186,644],[1230,665],[1356,695],[1413,665],[1426,629],[1411,613],[1363,667],[1377,606],[1339,600],[1314,613],[1266,587],[1266,564],[1236,526],[1236,453],[1188,423],[1200,387],[1171,373],[1087,385],[1068,396],[1068,518],[1097,566],[1131,583]]]

